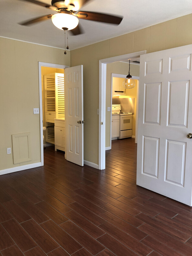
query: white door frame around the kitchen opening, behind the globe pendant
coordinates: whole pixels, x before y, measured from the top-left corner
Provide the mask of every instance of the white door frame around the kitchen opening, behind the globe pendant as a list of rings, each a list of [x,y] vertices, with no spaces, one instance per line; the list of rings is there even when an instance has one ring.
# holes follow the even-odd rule
[[[116,73],[111,73],[111,113],[110,113],[110,138],[111,138],[111,133],[112,133],[112,98],[113,98],[113,77],[120,77],[120,78],[125,78],[127,75],[122,75],[122,74],[116,74]],[[139,92],[139,76],[132,76],[133,79],[138,80],[138,88],[137,88],[137,95],[136,95],[136,120],[135,120],[135,143],[137,143],[137,109],[138,109],[138,92]],[[111,149],[111,139],[110,139],[110,146],[105,148],[105,150]]]

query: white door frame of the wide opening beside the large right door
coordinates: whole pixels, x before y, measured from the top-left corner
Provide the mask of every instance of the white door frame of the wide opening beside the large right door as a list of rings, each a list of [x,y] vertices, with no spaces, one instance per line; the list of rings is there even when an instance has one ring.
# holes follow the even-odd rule
[[[140,57],[146,50],[99,60],[99,170],[105,169],[106,66],[108,63]]]

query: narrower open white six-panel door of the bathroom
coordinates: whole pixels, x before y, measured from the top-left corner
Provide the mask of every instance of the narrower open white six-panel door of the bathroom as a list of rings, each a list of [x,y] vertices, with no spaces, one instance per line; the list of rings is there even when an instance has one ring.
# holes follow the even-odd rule
[[[65,69],[66,160],[83,166],[83,66]]]

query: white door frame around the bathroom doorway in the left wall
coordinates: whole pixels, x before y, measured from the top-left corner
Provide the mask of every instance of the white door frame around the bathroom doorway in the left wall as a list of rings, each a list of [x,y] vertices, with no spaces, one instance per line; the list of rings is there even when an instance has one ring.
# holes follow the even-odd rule
[[[41,67],[56,68],[56,69],[65,69],[69,66],[47,63],[47,62],[38,62],[39,65],[39,114],[40,114],[40,138],[41,138],[41,166],[44,165],[43,160],[43,107],[42,107],[42,80],[41,80]]]

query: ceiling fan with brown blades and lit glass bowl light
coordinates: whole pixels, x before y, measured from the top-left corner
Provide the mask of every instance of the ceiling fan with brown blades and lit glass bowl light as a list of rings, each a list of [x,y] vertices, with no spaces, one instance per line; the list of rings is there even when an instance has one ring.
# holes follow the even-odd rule
[[[30,19],[28,21],[19,23],[20,25],[28,26],[35,24],[36,22],[52,19],[52,22],[56,27],[63,29],[64,31],[70,30],[72,35],[79,35],[83,33],[80,25],[78,25],[79,19],[87,19],[116,25],[119,25],[123,19],[123,17],[108,15],[105,13],[79,11],[79,9],[90,0],[52,0],[51,5],[36,0],[22,1],[43,6],[45,8],[54,10],[57,13],[54,15],[48,14],[36,19]]]

